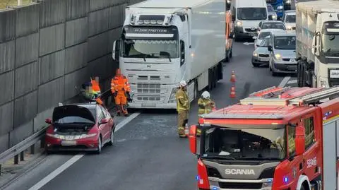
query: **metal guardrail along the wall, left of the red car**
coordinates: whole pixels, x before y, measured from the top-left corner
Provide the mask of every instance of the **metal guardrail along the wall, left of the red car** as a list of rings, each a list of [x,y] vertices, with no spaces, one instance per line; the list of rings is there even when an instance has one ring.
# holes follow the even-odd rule
[[[23,153],[24,150],[30,148],[31,146],[35,145],[38,141],[44,138],[46,128],[37,131],[32,136],[25,138],[25,140],[21,141],[20,143],[16,144],[15,146],[9,148],[8,150],[4,151],[4,153],[0,154],[0,164],[3,164],[7,160],[11,158],[18,157],[20,153]],[[18,158],[15,158],[18,159]],[[15,161],[16,162],[16,161]]]

